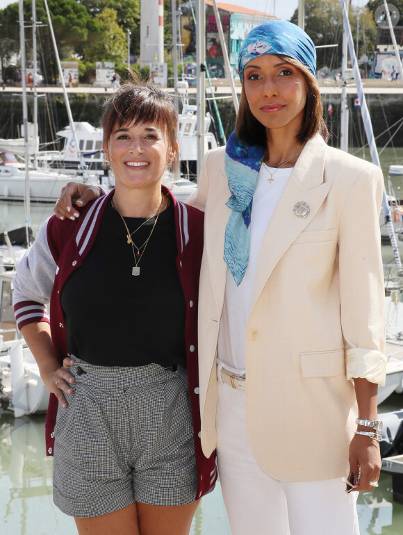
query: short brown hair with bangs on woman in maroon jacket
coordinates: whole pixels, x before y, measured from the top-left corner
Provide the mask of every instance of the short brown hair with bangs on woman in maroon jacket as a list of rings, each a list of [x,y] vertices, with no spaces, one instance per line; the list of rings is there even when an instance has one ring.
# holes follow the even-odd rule
[[[108,145],[115,127],[124,124],[154,123],[165,129],[170,146],[178,139],[178,112],[173,97],[159,85],[140,79],[130,72],[131,81],[126,81],[104,104],[101,127],[104,129],[104,142]],[[178,151],[175,164],[179,161]]]

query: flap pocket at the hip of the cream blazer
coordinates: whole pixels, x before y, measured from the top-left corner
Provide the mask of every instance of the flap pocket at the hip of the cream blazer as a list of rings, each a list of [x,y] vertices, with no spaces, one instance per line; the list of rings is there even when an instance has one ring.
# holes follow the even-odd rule
[[[302,376],[334,377],[345,375],[345,350],[315,351],[299,354],[301,359]]]

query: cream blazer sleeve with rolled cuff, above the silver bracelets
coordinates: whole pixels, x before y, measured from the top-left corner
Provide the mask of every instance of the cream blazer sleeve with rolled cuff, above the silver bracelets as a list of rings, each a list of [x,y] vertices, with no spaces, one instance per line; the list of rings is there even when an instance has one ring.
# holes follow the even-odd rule
[[[384,274],[379,212],[384,179],[368,165],[356,176],[339,229],[341,324],[347,379],[383,386],[386,379]]]

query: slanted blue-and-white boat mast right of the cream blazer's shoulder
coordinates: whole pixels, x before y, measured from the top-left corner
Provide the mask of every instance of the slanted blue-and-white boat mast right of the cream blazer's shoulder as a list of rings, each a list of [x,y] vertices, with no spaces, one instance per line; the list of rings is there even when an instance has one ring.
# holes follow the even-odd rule
[[[357,63],[356,53],[355,53],[355,50],[354,50],[354,41],[353,41],[353,38],[352,38],[351,28],[349,27],[347,7],[346,7],[345,0],[340,0],[340,1],[341,1],[341,5],[342,5],[342,8],[343,8],[343,22],[344,22],[344,27],[345,27],[345,30],[346,30],[346,36],[347,36],[347,42],[348,42],[348,48],[349,48],[349,56],[350,56],[350,58],[352,60],[352,69],[353,69],[353,72],[354,72],[354,81],[356,83],[357,94],[358,94],[359,102],[360,102],[360,106],[361,106],[361,115],[363,117],[365,134],[367,136],[368,145],[370,147],[370,153],[371,153],[372,162],[375,163],[375,165],[377,165],[378,167],[381,167],[381,163],[379,161],[379,154],[378,154],[378,151],[377,151],[377,145],[376,145],[376,142],[375,142],[375,136],[374,136],[374,132],[372,130],[370,112],[368,110],[367,101],[365,100],[365,94],[364,94],[364,91],[363,91],[363,82],[361,80],[361,75],[360,75],[360,71],[359,71],[359,65]],[[343,102],[342,102],[342,105],[343,105]],[[399,249],[397,248],[395,229],[393,229],[393,224],[392,224],[392,222],[390,220],[390,208],[389,208],[389,204],[388,204],[388,199],[386,197],[385,188],[384,188],[384,195],[382,197],[382,208],[383,208],[383,211],[384,211],[385,224],[386,224],[386,228],[388,229],[388,234],[389,234],[389,238],[390,238],[390,244],[392,245],[393,254],[395,256],[395,260],[396,260],[397,266],[400,269],[402,269],[402,261],[400,260]]]

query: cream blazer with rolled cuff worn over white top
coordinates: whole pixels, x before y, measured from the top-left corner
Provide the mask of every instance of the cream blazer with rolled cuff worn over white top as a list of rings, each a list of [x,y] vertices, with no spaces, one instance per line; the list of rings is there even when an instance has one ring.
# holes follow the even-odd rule
[[[265,232],[245,329],[245,418],[256,461],[275,479],[346,475],[357,416],[349,379],[384,384],[383,187],[378,167],[328,147],[317,134],[299,156]],[[209,151],[189,200],[206,213],[199,288],[206,456],[217,443],[215,357],[230,195],[224,148]],[[306,217],[293,211],[299,201],[309,205]]]

